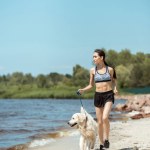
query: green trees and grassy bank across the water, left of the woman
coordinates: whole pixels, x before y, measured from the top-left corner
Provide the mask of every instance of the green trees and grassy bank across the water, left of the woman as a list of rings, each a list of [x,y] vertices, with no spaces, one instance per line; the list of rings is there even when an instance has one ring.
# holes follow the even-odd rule
[[[14,72],[0,76],[0,98],[78,98],[76,90],[85,86],[89,71],[80,65],[73,67],[73,74],[31,74]],[[90,98],[90,93],[85,98]]]

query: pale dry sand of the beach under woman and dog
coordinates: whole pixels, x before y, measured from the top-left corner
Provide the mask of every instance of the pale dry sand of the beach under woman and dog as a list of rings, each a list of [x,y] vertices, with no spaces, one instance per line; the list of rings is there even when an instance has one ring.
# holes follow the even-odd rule
[[[99,147],[97,138],[95,149]],[[79,134],[28,150],[79,150]],[[111,122],[109,150],[150,150],[150,118]]]

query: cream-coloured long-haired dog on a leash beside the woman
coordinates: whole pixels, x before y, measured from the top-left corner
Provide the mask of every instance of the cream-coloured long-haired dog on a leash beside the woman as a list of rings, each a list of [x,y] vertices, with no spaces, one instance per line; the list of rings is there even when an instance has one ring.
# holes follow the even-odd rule
[[[76,127],[80,132],[80,150],[94,148],[97,136],[97,123],[93,117],[81,107],[80,113],[75,113],[68,122],[71,127]]]

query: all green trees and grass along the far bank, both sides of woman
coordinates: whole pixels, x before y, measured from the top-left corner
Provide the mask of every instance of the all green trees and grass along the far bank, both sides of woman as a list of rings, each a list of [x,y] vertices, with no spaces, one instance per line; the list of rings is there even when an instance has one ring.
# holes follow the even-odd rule
[[[131,54],[128,49],[105,52],[108,64],[115,66],[121,92],[150,87],[150,54]],[[33,77],[31,74],[14,72],[0,76],[0,98],[78,98],[76,90],[86,86],[88,82],[89,70],[80,65],[73,67],[72,75],[53,72]],[[142,92],[142,88],[139,91]],[[92,98],[93,92],[94,89],[87,92],[84,98]],[[149,88],[147,93],[150,93]]]

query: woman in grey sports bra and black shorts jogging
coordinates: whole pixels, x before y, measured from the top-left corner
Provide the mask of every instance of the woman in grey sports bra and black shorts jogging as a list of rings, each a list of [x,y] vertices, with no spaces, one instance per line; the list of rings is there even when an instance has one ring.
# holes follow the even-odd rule
[[[94,106],[99,129],[100,150],[109,148],[109,113],[114,103],[114,94],[117,94],[116,73],[115,70],[108,66],[105,61],[105,52],[101,49],[96,49],[93,54],[93,62],[96,65],[90,70],[89,85],[79,89],[82,94],[96,86],[94,96]]]

